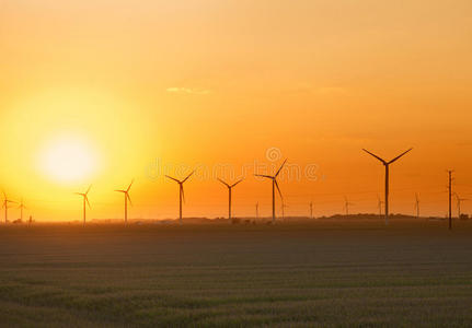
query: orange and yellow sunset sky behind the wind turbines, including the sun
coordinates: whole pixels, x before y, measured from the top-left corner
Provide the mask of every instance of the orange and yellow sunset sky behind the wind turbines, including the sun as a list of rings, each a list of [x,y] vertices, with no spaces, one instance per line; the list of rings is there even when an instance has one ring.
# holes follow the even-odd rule
[[[90,219],[447,212],[472,199],[472,2],[0,0],[0,187],[25,215]],[[12,204],[12,207],[15,207]],[[456,209],[456,204],[454,204]],[[462,204],[472,213],[472,201]],[[280,201],[277,200],[280,214]],[[456,210],[454,210],[456,212]],[[10,219],[19,210],[10,210]],[[3,218],[3,216],[1,216]]]

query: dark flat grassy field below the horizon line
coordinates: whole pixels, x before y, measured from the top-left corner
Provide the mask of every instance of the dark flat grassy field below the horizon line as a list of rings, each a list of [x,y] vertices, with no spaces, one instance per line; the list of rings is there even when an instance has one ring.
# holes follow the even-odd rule
[[[472,222],[0,226],[0,326],[470,326]]]

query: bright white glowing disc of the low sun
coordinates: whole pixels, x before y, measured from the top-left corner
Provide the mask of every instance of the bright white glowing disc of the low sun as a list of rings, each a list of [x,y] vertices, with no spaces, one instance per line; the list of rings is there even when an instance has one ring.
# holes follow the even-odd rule
[[[77,138],[58,138],[42,151],[42,169],[62,183],[78,181],[90,177],[96,169],[93,148]]]

